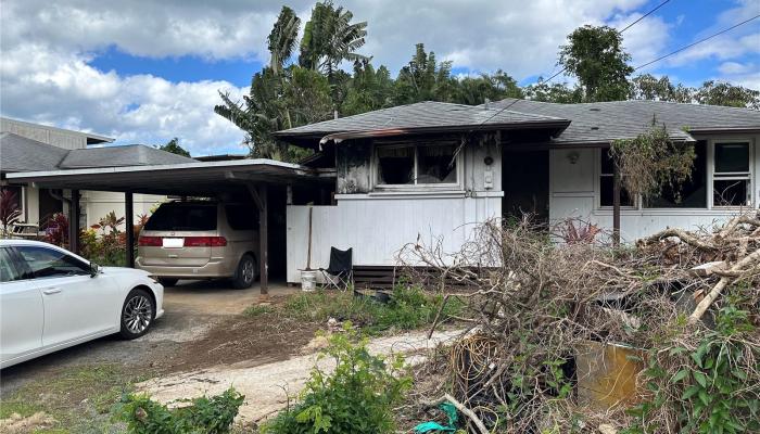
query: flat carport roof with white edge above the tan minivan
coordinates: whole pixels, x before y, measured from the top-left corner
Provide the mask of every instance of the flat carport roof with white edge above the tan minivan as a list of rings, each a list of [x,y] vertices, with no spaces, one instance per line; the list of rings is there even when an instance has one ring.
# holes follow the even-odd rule
[[[245,183],[296,184],[330,181],[332,177],[332,170],[264,158],[7,175],[9,182],[39,188],[210,196],[244,191]]]

